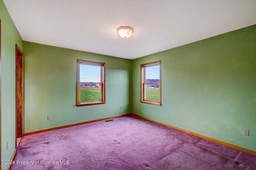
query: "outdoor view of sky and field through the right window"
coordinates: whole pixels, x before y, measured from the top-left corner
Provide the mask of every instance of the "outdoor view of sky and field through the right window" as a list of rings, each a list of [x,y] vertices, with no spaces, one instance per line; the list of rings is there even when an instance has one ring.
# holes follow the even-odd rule
[[[145,67],[145,92],[144,98],[150,101],[159,100],[159,89],[160,89],[160,65]]]

